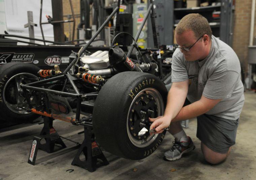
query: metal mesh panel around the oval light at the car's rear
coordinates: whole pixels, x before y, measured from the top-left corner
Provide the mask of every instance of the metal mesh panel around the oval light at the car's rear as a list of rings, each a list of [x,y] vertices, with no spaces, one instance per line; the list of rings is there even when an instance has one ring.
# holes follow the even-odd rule
[[[76,114],[72,111],[72,108],[70,107],[66,97],[61,97],[49,92],[46,92],[46,94],[50,101],[50,104],[49,104],[50,110],[51,110],[51,113],[53,114],[54,119],[60,119],[67,122],[71,122],[75,120]],[[51,102],[65,105],[67,114],[61,113],[61,111],[54,109]]]

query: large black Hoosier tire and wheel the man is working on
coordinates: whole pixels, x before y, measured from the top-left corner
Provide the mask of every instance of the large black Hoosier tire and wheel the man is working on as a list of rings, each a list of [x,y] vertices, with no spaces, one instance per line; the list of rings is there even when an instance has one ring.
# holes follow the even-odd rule
[[[138,136],[143,127],[139,123],[149,129],[148,117],[163,115],[167,93],[164,83],[148,73],[123,72],[110,78],[93,108],[96,141],[106,151],[126,159],[140,160],[152,154],[166,131]],[[141,112],[147,114],[142,118]]]

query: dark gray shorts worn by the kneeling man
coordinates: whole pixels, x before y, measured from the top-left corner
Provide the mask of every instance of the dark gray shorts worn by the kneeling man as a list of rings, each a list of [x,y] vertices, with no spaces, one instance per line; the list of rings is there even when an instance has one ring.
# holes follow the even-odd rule
[[[237,120],[203,114],[197,117],[196,137],[215,152],[227,153],[235,144]]]

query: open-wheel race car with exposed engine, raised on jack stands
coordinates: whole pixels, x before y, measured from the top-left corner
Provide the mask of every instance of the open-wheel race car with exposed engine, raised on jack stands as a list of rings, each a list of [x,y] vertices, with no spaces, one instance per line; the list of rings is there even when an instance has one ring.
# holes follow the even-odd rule
[[[73,125],[92,126],[97,143],[110,153],[132,160],[153,153],[166,131],[152,135],[139,132],[150,129],[149,117],[163,115],[168,93],[165,85],[170,78],[165,77],[167,73],[158,56],[159,33],[153,1],[150,2],[131,46],[114,45],[109,51],[94,53],[86,50],[109,19],[119,12],[119,1],[91,40],[72,54],[65,71],[61,72],[58,65],[54,70],[40,70],[18,62],[2,65],[2,118],[35,119],[42,115]],[[155,48],[141,49],[136,41],[150,13]],[[116,37],[121,34],[128,33],[121,32]],[[114,41],[115,38],[113,44]]]

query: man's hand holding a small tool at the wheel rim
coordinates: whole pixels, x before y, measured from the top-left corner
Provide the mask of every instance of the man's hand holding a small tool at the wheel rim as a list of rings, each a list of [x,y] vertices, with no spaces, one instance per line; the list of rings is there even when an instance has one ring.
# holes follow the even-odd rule
[[[164,128],[170,126],[171,118],[159,116],[157,118],[149,118],[149,121],[153,122],[150,126],[150,129],[156,128],[155,134],[162,133]]]

